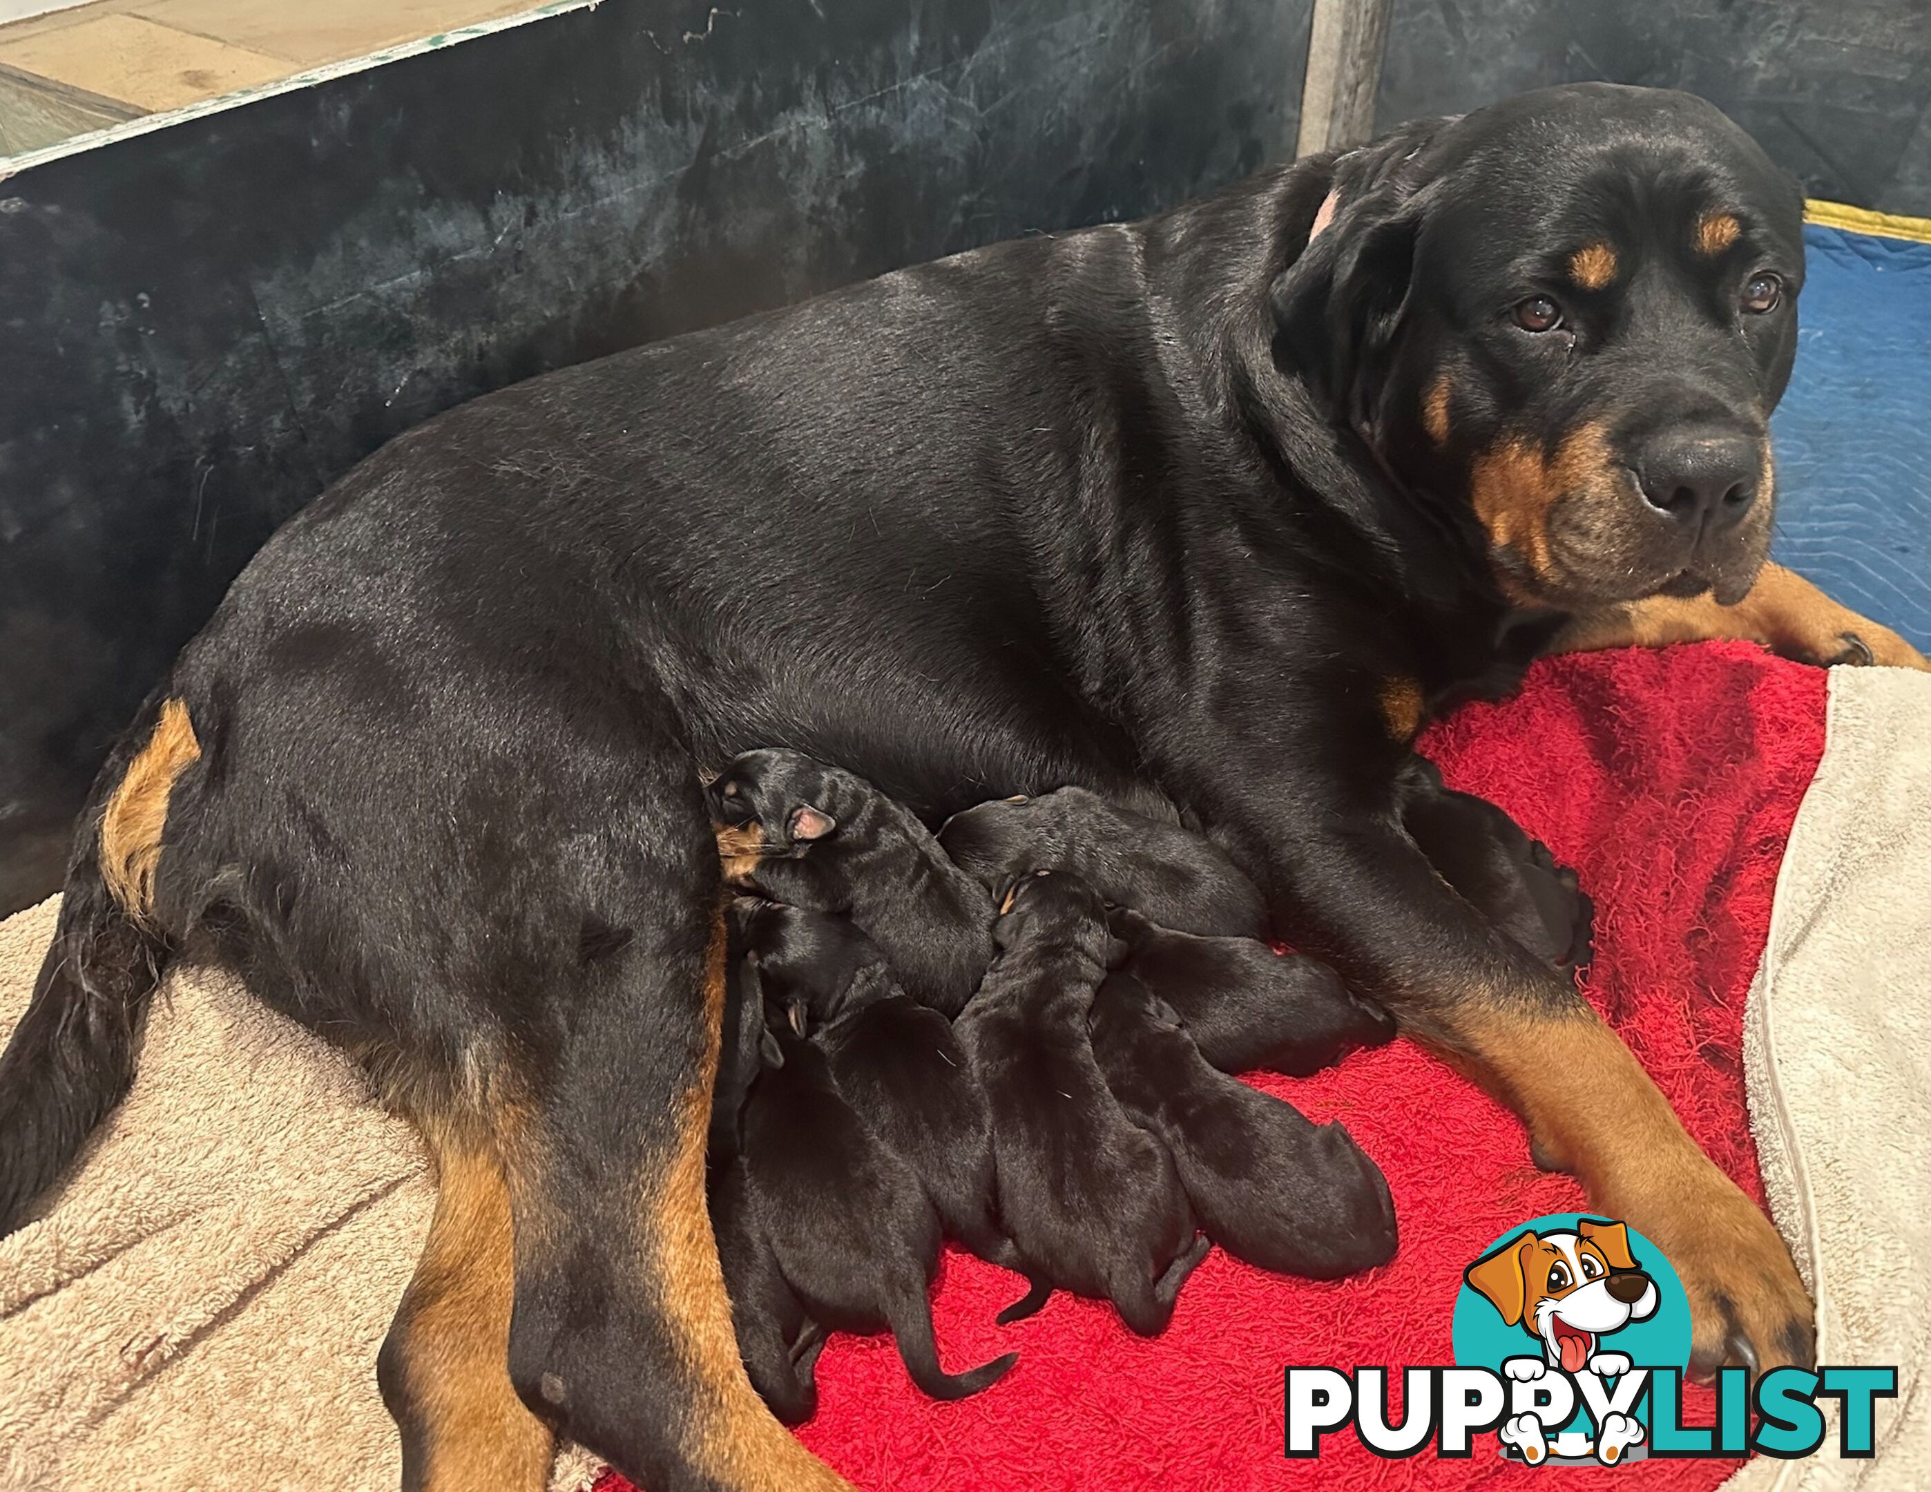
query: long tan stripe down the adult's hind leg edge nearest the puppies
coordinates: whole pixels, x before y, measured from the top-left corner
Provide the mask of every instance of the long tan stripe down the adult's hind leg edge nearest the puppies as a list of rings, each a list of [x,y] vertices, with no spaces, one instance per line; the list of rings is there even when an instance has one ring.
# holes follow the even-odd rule
[[[778,1424],[738,1355],[705,1204],[705,1143],[724,1023],[724,979],[720,907],[705,971],[707,1056],[680,1100],[676,1152],[643,1197],[645,1247],[653,1255],[645,1278],[662,1282],[662,1320],[678,1343],[686,1382],[697,1394],[697,1415],[684,1430],[682,1450],[693,1467],[736,1492],[852,1492],[850,1482]]]

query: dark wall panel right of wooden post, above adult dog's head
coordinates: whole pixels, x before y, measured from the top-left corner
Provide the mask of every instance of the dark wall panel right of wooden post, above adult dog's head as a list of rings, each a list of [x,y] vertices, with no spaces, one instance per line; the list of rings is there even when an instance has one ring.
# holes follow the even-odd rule
[[[1811,197],[1931,214],[1927,0],[1394,0],[1377,114],[1589,79],[1701,93]]]

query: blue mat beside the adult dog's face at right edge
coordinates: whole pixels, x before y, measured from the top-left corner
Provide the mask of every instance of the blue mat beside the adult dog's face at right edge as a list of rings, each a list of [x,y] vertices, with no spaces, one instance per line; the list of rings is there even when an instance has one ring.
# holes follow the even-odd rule
[[[1804,241],[1771,554],[1931,650],[1931,243]]]

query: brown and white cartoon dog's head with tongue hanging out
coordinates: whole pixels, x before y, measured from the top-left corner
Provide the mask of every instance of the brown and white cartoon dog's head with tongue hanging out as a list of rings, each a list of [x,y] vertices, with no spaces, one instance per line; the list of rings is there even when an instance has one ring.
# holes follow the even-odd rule
[[[1504,1322],[1543,1345],[1547,1367],[1564,1372],[1628,1372],[1628,1359],[1599,1343],[1657,1312],[1657,1282],[1636,1266],[1620,1222],[1581,1218],[1574,1233],[1524,1233],[1477,1258],[1464,1278]]]

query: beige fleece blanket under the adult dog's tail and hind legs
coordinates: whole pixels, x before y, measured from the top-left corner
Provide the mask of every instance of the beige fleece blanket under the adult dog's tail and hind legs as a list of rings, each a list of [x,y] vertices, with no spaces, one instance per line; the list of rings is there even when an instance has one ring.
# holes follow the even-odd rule
[[[0,923],[12,1031],[58,898]],[[0,1243],[0,1486],[394,1492],[375,1355],[429,1230],[407,1125],[218,975],[170,975],[141,1075]],[[556,1486],[585,1486],[583,1451]]]

